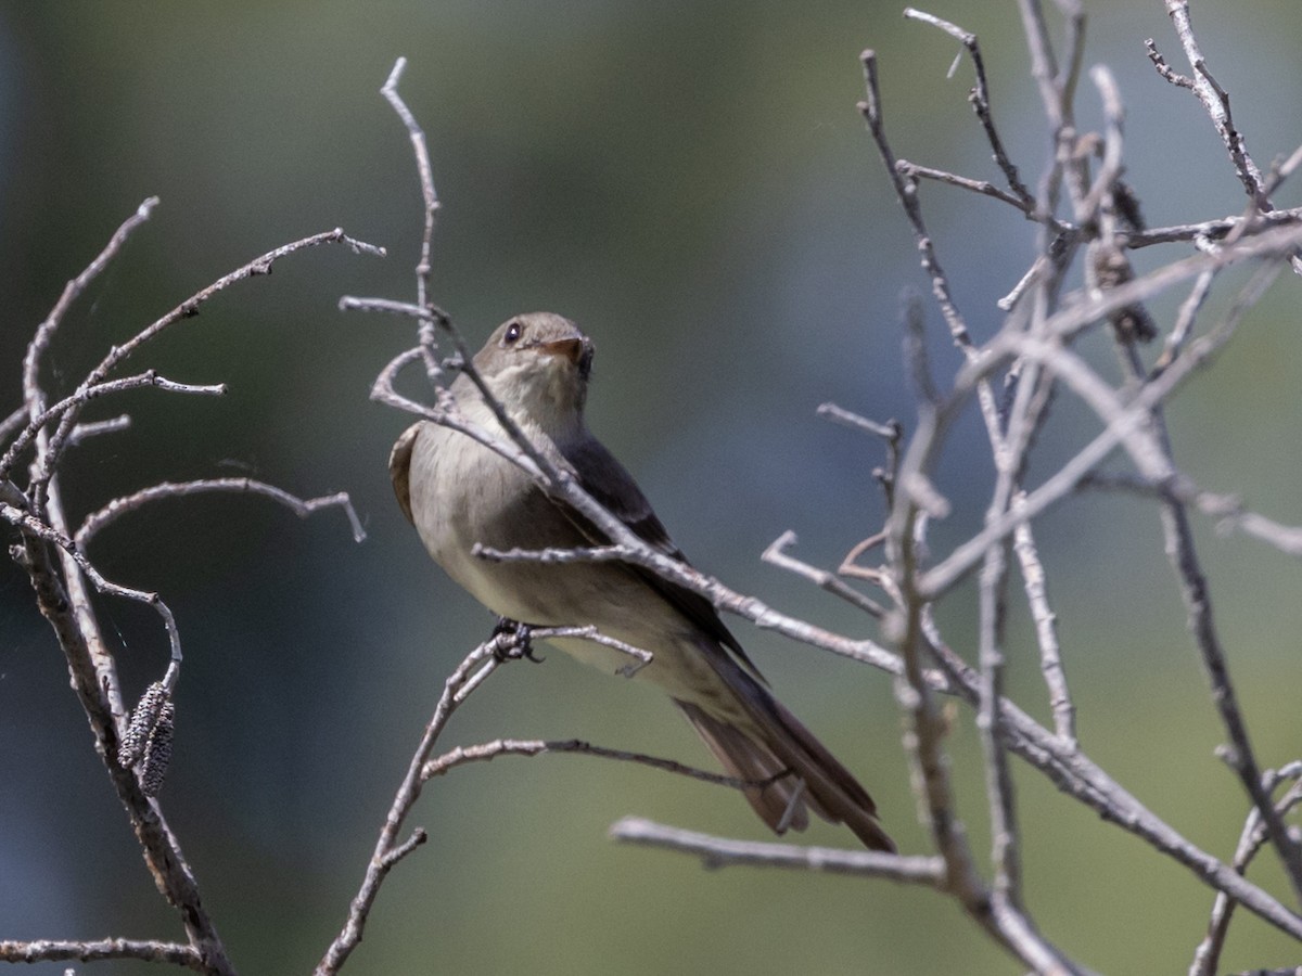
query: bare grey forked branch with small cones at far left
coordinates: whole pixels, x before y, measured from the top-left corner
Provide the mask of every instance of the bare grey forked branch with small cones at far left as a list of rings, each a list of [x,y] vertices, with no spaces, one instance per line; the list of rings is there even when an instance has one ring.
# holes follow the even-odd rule
[[[158,593],[111,583],[85,557],[72,539],[64,514],[57,471],[66,448],[96,433],[122,429],[128,423],[125,416],[96,423],[79,423],[79,414],[91,400],[142,386],[195,394],[220,394],[224,392],[225,388],[220,384],[201,386],[173,383],[152,370],[135,376],[109,377],[109,373],[143,342],[177,319],[197,314],[198,306],[208,297],[237,280],[267,273],[271,263],[277,258],[316,243],[342,242],[354,250],[381,251],[348,238],[341,230],[318,234],[271,251],[197,293],[173,312],[142,329],[125,344],[111,347],[99,366],[82,379],[72,394],[65,396],[55,406],[48,406],[46,392],[40,385],[42,362],[61,321],[72,303],[85,293],[87,285],[121,251],[128,237],[148,217],[156,203],[156,199],[146,200],[117,229],[91,264],[68,282],[59,302],[38,327],[27,346],[22,371],[23,411],[21,418],[14,414],[4,423],[4,440],[9,442],[5,444],[4,457],[0,458],[0,467],[4,471],[0,476],[0,488],[4,489],[0,519],[16,526],[21,534],[22,544],[14,547],[12,552],[31,578],[38,608],[49,621],[68,658],[72,685],[90,721],[95,748],[100,753],[113,787],[128,812],[146,865],[152,873],[160,894],[180,914],[189,945],[174,946],[165,942],[132,940],[23,945],[29,949],[33,945],[39,945],[43,953],[40,958],[49,960],[137,958],[189,966],[214,976],[228,976],[233,973],[233,967],[227,958],[216,925],[202,904],[194,873],[158,804],[150,796],[161,782],[161,773],[165,768],[163,753],[169,748],[167,703],[164,701],[158,724],[148,735],[146,761],[138,777],[117,759],[120,735],[125,730],[125,725],[120,727],[120,722],[125,724],[125,708],[117,681],[116,661],[100,634],[91,605],[90,587],[102,593],[145,603],[159,613],[168,635],[172,657],[163,682],[158,683],[164,690],[164,698],[176,683],[177,665],[181,660],[181,643],[176,621]],[[21,420],[26,420],[26,424],[23,426]],[[10,437],[13,437],[12,441]],[[26,493],[23,493],[8,479],[18,458],[29,449],[34,449],[34,459],[29,468],[30,481]],[[87,580],[90,586],[87,586]],[[5,943],[5,946],[13,945],[18,943]]]

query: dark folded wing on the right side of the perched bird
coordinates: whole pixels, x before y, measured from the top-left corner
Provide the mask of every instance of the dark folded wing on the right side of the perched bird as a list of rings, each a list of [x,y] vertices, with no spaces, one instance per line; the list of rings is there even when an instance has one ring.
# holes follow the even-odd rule
[[[634,535],[650,547],[672,560],[687,563],[687,557],[674,545],[664,523],[660,522],[651,509],[651,502],[642,495],[642,489],[638,488],[637,481],[633,480],[633,476],[624,468],[624,465],[599,440],[589,435],[570,444],[557,444],[557,448],[560,448],[561,457],[569,463],[572,472],[578,479],[583,491],[599,501],[612,515],[618,518],[620,522],[628,526]],[[599,532],[578,511],[574,511],[568,505],[565,508],[568,510],[566,514],[570,515],[583,534],[592,539],[595,544],[609,544],[609,539],[603,532]],[[751,674],[759,678],[759,681],[764,681],[759,669],[746,656],[741,644],[737,643],[737,638],[724,626],[724,622],[719,618],[719,613],[706,597],[685,590],[676,583],[671,583],[651,570],[642,569],[641,566],[630,566],[630,569],[646,579],[684,617],[713,638],[720,647],[736,655],[737,660]]]

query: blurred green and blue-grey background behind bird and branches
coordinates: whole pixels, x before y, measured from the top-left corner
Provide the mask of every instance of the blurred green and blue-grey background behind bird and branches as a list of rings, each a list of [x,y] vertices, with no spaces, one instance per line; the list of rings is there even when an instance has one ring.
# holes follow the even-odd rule
[[[1161,82],[1143,39],[1178,64],[1163,5],[1087,4],[1087,64],[1126,99],[1129,178],[1151,224],[1242,207],[1189,92]],[[1014,4],[932,8],[979,33],[997,118],[1034,180],[1047,135]],[[1246,14],[1245,10],[1250,10]],[[1277,0],[1199,4],[1195,22],[1259,163],[1302,138],[1302,17]],[[341,294],[409,298],[421,211],[405,133],[378,90],[395,59],[444,202],[434,297],[478,344],[513,312],[564,312],[595,337],[591,426],[624,458],[694,561],[733,587],[850,634],[871,623],[758,556],[786,528],[835,565],[879,524],[876,442],[815,418],[827,400],[914,419],[898,307],[926,289],[855,112],[859,51],[880,53],[898,154],[996,178],[957,46],[857,3],[8,3],[0,7],[0,411],[18,402],[25,344],[64,282],[142,199],[154,219],[69,315],[47,380],[70,388],[108,344],[285,241],[344,226],[379,260],[319,249],[233,289],[135,363],[224,400],[156,392],[96,407],[133,428],[79,449],[73,511],[161,479],[247,474],[302,496],[352,493],[299,522],[270,502],[169,502],[105,531],[92,557],[160,590],[186,665],[164,808],[243,972],[305,972],[337,932],[444,675],[490,617],[437,573],[392,501],[385,458],[406,418],[371,403],[409,323],[340,314]],[[1082,122],[1098,112],[1082,85]],[[931,230],[978,340],[1034,254],[1000,204],[924,187]],[[1280,203],[1297,202],[1297,187]],[[1144,267],[1181,256],[1144,254]],[[1226,288],[1233,285],[1233,276]],[[1228,290],[1224,293],[1228,294]],[[1165,315],[1176,298],[1159,302]],[[957,362],[939,316],[940,376]],[[1103,340],[1086,351],[1105,368]],[[1297,284],[1281,281],[1215,370],[1172,407],[1177,455],[1206,487],[1302,522]],[[413,377],[414,379],[414,377]],[[411,384],[417,390],[418,385]],[[1060,402],[1036,476],[1095,429]],[[979,523],[990,462],[969,418],[940,484],[954,514],[937,553]],[[1302,752],[1294,561],[1199,521],[1234,677],[1266,764]],[[1155,509],[1088,496],[1040,526],[1085,748],[1208,850],[1245,813],[1212,756],[1221,733],[1184,630]],[[148,612],[104,603],[133,695],[159,677]],[[945,605],[973,647],[971,592]],[[870,785],[902,848],[915,824],[888,679],[737,627],[784,700]],[[1022,610],[1012,691],[1047,718]],[[92,755],[62,658],[25,578],[0,570],[0,938],[180,937]],[[655,695],[548,656],[496,675],[447,746],[582,737],[706,761]],[[950,738],[961,812],[984,852],[970,714]],[[1108,972],[1182,968],[1211,894],[1017,768],[1027,895],[1066,950]],[[736,796],[581,757],[501,759],[434,782],[413,819],[431,842],[384,888],[354,973],[1017,972],[926,890],[729,869],[618,847],[638,813],[763,837]],[[809,839],[850,842],[823,825]],[[1254,877],[1280,888],[1266,869]],[[1251,917],[1226,964],[1297,962]],[[134,973],[143,964],[86,971]],[[36,967],[38,973],[62,966]]]

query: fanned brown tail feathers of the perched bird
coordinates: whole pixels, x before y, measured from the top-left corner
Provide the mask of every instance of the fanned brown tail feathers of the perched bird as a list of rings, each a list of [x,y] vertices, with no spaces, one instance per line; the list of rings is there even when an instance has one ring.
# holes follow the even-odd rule
[[[766,783],[742,791],[760,820],[777,834],[788,828],[803,830],[812,809],[849,826],[870,850],[894,851],[867,790],[763,686],[741,677],[747,686],[742,704],[751,717],[745,727],[690,701],[674,703],[729,776]]]

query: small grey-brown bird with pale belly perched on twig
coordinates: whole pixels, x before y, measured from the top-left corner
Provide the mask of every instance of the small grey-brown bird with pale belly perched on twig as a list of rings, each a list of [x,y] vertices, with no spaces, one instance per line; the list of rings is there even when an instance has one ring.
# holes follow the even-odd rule
[[[492,397],[559,470],[656,552],[686,563],[637,481],[585,420],[592,341],[552,312],[516,315],[474,357]],[[448,388],[467,420],[505,437],[461,372]],[[635,679],[658,686],[695,727],[745,798],[777,834],[803,830],[809,811],[845,824],[874,851],[894,851],[868,793],[772,694],[699,593],[622,561],[488,560],[482,549],[574,549],[611,544],[592,522],[548,495],[518,465],[432,420],[397,439],[389,474],[398,506],[443,570],[504,622],[595,626],[651,653]],[[624,652],[581,638],[548,643],[608,673]]]

